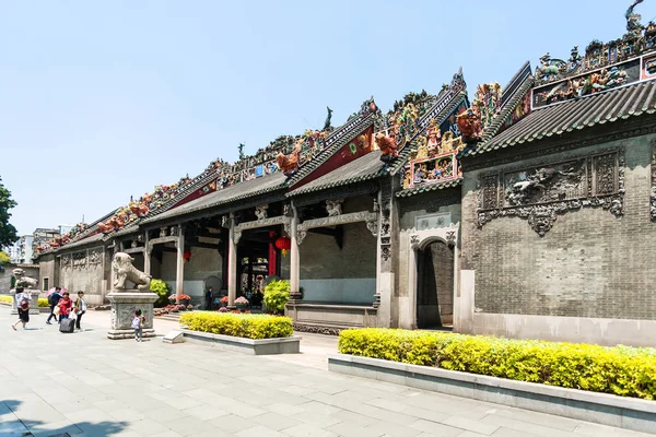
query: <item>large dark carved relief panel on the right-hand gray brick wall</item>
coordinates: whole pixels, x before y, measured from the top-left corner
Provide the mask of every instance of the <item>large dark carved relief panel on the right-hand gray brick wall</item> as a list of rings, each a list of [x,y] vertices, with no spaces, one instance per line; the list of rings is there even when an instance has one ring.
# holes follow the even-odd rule
[[[623,147],[564,162],[544,161],[532,168],[483,175],[479,180],[479,226],[500,216],[518,216],[544,236],[558,214],[586,206],[623,214]]]

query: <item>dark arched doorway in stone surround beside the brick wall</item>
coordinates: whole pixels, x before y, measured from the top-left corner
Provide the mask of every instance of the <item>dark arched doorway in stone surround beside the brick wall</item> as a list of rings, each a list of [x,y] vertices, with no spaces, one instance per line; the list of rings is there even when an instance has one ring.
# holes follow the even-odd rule
[[[417,327],[453,327],[454,248],[434,241],[418,250]]]

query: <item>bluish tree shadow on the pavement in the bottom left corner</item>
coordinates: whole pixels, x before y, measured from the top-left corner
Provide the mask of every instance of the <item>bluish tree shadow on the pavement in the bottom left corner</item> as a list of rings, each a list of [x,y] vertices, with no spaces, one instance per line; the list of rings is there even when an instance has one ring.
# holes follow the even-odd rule
[[[89,434],[92,436],[114,436],[124,432],[127,427],[126,422],[78,422],[69,425],[47,425],[40,421],[21,421],[15,411],[21,401],[4,400],[0,401],[0,436],[3,437],[62,437],[75,436],[78,434]],[[62,415],[61,422],[70,422]]]

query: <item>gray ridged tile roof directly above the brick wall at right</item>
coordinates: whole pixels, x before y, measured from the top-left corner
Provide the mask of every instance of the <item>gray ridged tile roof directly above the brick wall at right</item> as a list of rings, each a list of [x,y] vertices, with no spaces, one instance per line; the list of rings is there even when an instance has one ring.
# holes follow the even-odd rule
[[[469,155],[561,135],[656,111],[656,82],[641,82],[535,109]]]

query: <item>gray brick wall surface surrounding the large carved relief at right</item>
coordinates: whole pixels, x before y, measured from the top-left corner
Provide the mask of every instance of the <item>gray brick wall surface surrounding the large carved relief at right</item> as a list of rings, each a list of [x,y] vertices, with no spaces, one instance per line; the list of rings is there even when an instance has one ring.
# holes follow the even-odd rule
[[[518,217],[494,218],[478,228],[477,181],[481,172],[466,173],[461,269],[476,271],[476,311],[656,319],[656,223],[649,220],[651,147],[655,138],[645,135],[567,152],[583,155],[625,147],[624,215],[616,217],[602,209],[567,212],[558,215],[543,237]],[[531,161],[526,166],[530,167]]]

